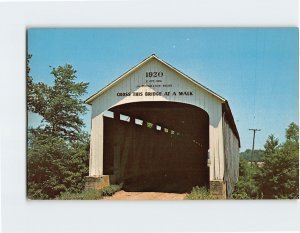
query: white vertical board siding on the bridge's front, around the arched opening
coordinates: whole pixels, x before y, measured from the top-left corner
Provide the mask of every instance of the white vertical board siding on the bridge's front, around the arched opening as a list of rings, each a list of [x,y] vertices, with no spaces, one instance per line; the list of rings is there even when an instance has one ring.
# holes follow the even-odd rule
[[[146,82],[147,71],[163,72],[160,87],[143,86]],[[149,80],[149,78],[148,78]],[[172,84],[172,87],[163,87],[164,84]],[[170,96],[117,96],[121,92],[146,91],[178,93],[179,91],[191,91],[193,95]],[[210,180],[223,179],[224,175],[224,144],[222,133],[222,101],[205,89],[195,85],[181,76],[165,64],[152,59],[115,83],[109,90],[92,101],[92,131],[91,131],[91,156],[90,176],[101,176],[103,166],[99,156],[103,157],[102,141],[103,132],[99,132],[103,126],[102,114],[111,107],[139,101],[173,101],[191,104],[202,108],[209,115],[209,147],[210,147]],[[188,114],[188,113],[187,113]],[[100,119],[101,118],[101,119]],[[103,159],[103,158],[102,158]]]

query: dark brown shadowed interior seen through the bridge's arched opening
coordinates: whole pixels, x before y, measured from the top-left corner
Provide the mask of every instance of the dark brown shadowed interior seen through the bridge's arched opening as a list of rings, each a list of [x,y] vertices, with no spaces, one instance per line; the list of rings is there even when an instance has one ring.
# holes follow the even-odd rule
[[[104,117],[104,174],[123,182],[124,190],[183,193],[208,185],[209,117],[204,110],[136,102],[109,111],[114,118]]]

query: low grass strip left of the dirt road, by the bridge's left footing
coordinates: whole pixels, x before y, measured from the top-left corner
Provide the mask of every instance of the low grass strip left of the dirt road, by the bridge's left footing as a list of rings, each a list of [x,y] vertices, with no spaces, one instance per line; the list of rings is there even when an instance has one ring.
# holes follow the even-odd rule
[[[100,190],[96,189],[84,189],[81,193],[62,193],[58,200],[100,200],[104,196],[112,196],[114,193],[120,191],[122,185],[109,185]]]

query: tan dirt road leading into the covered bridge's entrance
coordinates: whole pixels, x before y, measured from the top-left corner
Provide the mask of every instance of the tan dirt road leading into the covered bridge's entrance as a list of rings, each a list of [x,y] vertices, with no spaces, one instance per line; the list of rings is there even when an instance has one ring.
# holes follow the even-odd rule
[[[183,200],[186,194],[180,193],[157,193],[157,192],[116,192],[104,200]]]

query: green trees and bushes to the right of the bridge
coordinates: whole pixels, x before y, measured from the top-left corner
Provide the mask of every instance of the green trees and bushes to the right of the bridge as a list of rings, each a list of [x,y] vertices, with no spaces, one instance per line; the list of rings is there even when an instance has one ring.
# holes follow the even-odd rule
[[[250,150],[249,150],[250,151]],[[299,198],[299,127],[291,123],[286,141],[270,135],[264,145],[261,164],[240,160],[239,182],[234,199],[296,199]]]

